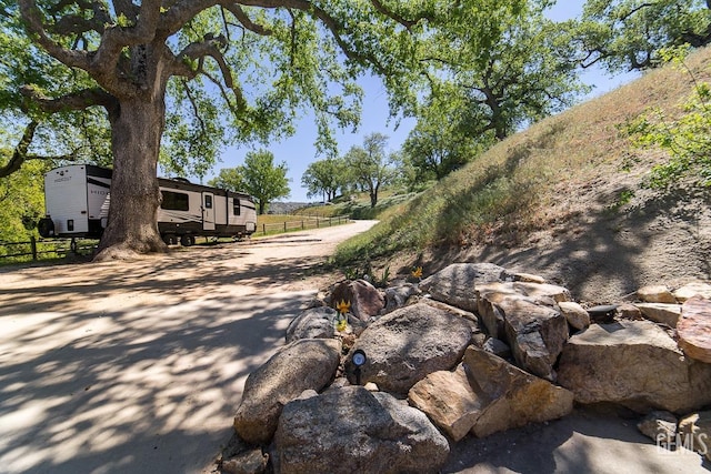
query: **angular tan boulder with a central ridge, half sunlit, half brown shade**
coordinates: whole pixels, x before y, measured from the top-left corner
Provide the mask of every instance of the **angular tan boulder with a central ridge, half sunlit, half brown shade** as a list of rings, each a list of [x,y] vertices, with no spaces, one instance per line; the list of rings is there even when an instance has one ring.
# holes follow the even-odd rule
[[[463,365],[430,374],[408,397],[454,441],[559,418],[573,407],[568,390],[475,347],[467,349]]]

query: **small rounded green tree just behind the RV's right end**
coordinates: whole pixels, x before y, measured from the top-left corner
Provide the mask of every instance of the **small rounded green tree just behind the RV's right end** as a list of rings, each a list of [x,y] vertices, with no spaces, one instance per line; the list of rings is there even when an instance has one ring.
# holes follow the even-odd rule
[[[243,191],[257,199],[260,214],[267,211],[271,201],[291,193],[288,171],[286,162],[274,164],[274,155],[264,150],[247,153],[244,164],[238,167]]]

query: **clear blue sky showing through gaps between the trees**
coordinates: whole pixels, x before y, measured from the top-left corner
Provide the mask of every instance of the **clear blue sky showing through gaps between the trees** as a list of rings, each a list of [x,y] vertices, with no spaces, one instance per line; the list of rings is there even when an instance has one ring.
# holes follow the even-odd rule
[[[549,11],[548,16],[553,20],[565,20],[579,17],[582,12],[583,3],[584,0],[559,0]],[[615,89],[629,82],[634,77],[634,74],[621,74],[610,78],[600,70],[588,70],[581,75],[583,82],[594,87],[590,97],[595,97]],[[388,142],[389,151],[399,150],[407,139],[409,131],[414,125],[414,120],[402,120],[395,129],[395,120],[389,119],[388,115],[387,93],[380,80],[375,78],[364,78],[361,87],[365,92],[362,103],[361,123],[356,133],[351,133],[349,130],[348,132],[337,134],[339,154],[344,154],[353,145],[362,145],[363,137],[373,132],[381,132],[390,138]],[[304,117],[297,127],[298,130],[293,137],[281,142],[272,143],[268,147],[268,150],[274,154],[278,163],[284,161],[289,168],[288,178],[291,180],[289,183],[291,195],[284,201],[317,201],[317,198],[307,198],[307,190],[301,186],[301,177],[309,163],[323,159],[324,157],[316,155],[313,143],[316,142],[317,132],[312,118],[308,115]],[[248,151],[250,151],[249,147],[226,149],[222,153],[221,162],[206,177],[204,181],[207,182],[213,178],[222,168],[234,168],[242,164],[244,154]]]

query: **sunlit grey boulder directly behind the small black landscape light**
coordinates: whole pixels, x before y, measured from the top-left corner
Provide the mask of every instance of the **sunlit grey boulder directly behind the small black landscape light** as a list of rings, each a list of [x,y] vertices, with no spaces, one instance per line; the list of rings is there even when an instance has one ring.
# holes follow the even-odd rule
[[[418,303],[395,310],[370,324],[352,347],[368,362],[360,369],[361,382],[381,390],[407,394],[428,374],[454,367],[471,342],[470,322],[448,311]],[[351,359],[346,371],[357,382]]]

